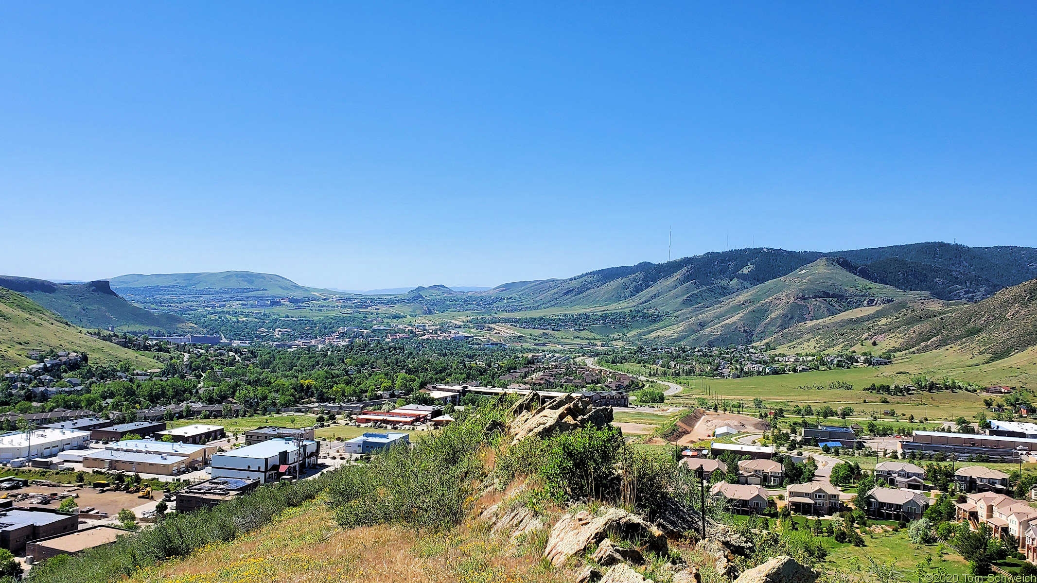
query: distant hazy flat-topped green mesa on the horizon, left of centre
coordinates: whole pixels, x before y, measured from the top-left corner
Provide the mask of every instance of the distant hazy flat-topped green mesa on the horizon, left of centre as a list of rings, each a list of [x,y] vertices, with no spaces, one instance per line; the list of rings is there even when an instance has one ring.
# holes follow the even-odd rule
[[[300,286],[287,278],[252,271],[217,271],[201,273],[130,273],[110,280],[112,288],[190,288],[194,290],[232,290],[241,294],[310,297],[347,295],[341,292]]]

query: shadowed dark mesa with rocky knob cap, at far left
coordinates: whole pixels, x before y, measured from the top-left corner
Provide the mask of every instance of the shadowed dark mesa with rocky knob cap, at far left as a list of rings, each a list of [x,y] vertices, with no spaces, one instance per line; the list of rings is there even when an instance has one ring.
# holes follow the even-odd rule
[[[115,326],[119,330],[198,331],[172,314],[157,314],[118,296],[108,282],[54,284],[45,280],[0,276],[0,287],[24,294],[32,301],[85,328]]]

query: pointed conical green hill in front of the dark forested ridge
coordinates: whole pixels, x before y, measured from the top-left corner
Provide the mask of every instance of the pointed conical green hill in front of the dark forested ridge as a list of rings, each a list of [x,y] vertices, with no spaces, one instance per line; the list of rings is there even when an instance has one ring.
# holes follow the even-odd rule
[[[821,258],[788,275],[673,314],[676,323],[664,323],[646,337],[696,345],[751,344],[802,322],[912,295],[859,278],[835,259]]]

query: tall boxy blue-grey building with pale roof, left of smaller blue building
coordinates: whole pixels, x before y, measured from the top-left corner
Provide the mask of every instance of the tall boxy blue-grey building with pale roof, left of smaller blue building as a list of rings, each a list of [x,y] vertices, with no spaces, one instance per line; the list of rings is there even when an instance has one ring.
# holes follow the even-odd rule
[[[214,455],[213,477],[251,477],[267,484],[315,467],[318,453],[313,440],[268,439]]]

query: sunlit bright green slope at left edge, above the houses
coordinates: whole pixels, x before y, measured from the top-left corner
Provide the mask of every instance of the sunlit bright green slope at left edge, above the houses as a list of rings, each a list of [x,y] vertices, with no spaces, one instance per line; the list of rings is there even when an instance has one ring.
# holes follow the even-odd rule
[[[26,296],[0,288],[0,369],[31,365],[34,360],[27,353],[51,348],[85,352],[91,362],[129,360],[144,370],[162,367],[133,350],[92,339]]]

